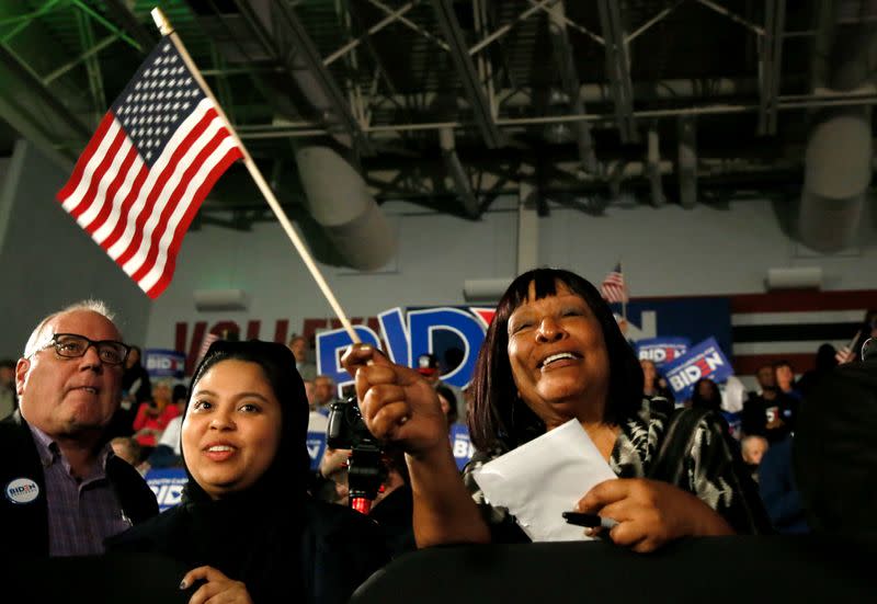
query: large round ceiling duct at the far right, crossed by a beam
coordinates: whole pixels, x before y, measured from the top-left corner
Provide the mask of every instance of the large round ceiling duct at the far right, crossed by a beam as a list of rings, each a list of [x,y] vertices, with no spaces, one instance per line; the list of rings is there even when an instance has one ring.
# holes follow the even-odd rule
[[[833,91],[859,89],[873,73],[877,26],[864,18],[877,14],[877,1],[859,2],[858,13],[863,21],[853,32],[839,32],[833,22],[825,27],[834,37],[825,82]],[[836,19],[839,13],[830,16]],[[872,178],[870,119],[870,110],[859,106],[816,115],[798,216],[798,233],[809,248],[836,252],[854,242]]]

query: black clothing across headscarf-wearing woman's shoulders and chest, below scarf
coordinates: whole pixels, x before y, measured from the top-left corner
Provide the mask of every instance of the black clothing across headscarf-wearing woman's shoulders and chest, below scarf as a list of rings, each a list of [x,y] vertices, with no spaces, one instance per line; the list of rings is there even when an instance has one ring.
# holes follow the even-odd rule
[[[241,523],[252,529],[236,531]],[[111,537],[107,551],[158,554],[190,570],[213,566],[243,581],[255,604],[343,604],[388,561],[374,522],[309,498],[285,511],[266,502],[261,518],[235,515],[225,526],[214,524],[183,503]]]

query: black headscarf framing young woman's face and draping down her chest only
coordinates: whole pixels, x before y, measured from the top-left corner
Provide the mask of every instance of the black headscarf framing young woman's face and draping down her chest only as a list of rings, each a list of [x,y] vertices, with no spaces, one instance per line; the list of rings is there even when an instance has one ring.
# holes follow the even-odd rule
[[[258,364],[281,403],[281,440],[267,470],[243,491],[213,500],[185,468],[189,483],[182,506],[189,516],[189,543],[176,544],[193,563],[218,568],[243,581],[253,601],[274,602],[299,593],[299,549],[309,456],[308,402],[293,353],[271,342],[215,342],[195,369],[189,398],[198,380],[223,361]],[[185,451],[183,451],[185,464]]]

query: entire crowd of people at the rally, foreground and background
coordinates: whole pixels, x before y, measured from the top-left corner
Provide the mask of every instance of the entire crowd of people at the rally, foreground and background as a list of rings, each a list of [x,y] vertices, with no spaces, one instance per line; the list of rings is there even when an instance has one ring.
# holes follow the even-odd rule
[[[315,475],[306,434],[327,430],[338,392],[303,338],[219,340],[187,386],[152,383],[106,307],[79,303],[41,321],[18,363],[0,363],[0,533],[23,544],[20,555],[167,556],[189,569],[180,588],[192,602],[345,602],[415,548],[532,540],[511,505],[486,495],[481,472],[569,425],[615,476],[569,501],[597,518],[582,538],[648,552],[683,537],[824,529],[829,513],[830,526],[848,527],[835,516],[874,493],[840,497],[852,503],[838,512],[820,482],[799,485],[794,471],[808,460],[793,440],[830,449],[819,426],[846,401],[825,398],[874,400],[875,351],[848,363],[852,374],[833,367],[852,361],[835,352],[820,349],[798,381],[787,363],[762,367],[732,433],[719,385],[702,379],[674,401],[591,283],[539,269],[500,299],[466,391],[441,381],[431,354],[410,368],[351,346],[342,365],[381,463],[354,465],[328,447]],[[821,420],[808,415],[817,410]],[[463,472],[448,440],[458,421],[476,448]],[[844,447],[831,451],[848,461]],[[187,477],[182,501],[159,515],[143,475],[174,465]],[[353,505],[364,480],[376,497]]]

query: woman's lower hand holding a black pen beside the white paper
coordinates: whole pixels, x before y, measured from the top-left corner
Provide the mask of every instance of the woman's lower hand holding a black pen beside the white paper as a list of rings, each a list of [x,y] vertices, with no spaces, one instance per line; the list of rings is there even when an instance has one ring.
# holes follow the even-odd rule
[[[640,552],[653,551],[680,537],[733,534],[725,518],[695,495],[646,478],[601,482],[579,500],[576,509],[617,521],[610,538]]]

